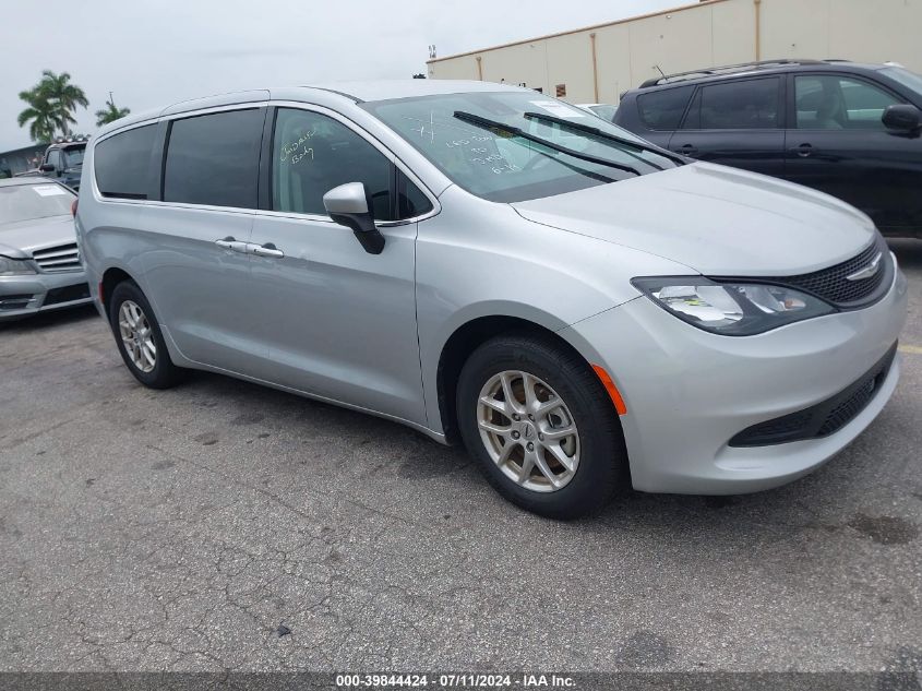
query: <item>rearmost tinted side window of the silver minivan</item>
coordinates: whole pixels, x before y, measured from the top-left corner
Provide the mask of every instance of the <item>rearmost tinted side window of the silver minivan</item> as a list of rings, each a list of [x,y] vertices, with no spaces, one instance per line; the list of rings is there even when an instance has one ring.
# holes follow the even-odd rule
[[[121,132],[93,150],[96,186],[103,196],[147,199],[147,171],[157,126]]]

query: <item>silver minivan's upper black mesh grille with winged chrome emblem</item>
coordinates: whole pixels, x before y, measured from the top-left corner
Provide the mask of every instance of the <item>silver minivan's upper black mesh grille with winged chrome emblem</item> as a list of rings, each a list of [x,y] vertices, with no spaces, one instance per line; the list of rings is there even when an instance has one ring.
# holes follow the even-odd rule
[[[859,281],[849,281],[847,278],[847,276],[850,276],[871,264],[878,252],[882,253],[882,258],[881,266],[878,267],[876,274],[870,278],[862,278]],[[783,278],[769,278],[769,281],[806,290],[807,293],[819,296],[834,305],[851,306],[874,295],[877,288],[881,287],[881,283],[884,281],[884,277],[889,274],[889,271],[887,270],[889,262],[890,254],[887,249],[887,243],[878,236],[871,247],[847,262],[836,264],[829,269],[815,271],[810,274],[785,276]]]

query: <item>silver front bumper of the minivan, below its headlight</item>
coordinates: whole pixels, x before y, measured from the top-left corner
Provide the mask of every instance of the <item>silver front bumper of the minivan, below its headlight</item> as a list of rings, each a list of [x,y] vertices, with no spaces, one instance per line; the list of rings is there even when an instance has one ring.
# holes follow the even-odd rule
[[[752,426],[849,389],[885,358],[906,313],[906,277],[897,269],[887,295],[869,308],[755,336],[710,334],[645,297],[561,335],[607,369],[625,401],[621,424],[636,489],[731,495],[806,475],[874,420],[896,389],[898,354],[870,402],[837,431],[787,443],[730,444]]]

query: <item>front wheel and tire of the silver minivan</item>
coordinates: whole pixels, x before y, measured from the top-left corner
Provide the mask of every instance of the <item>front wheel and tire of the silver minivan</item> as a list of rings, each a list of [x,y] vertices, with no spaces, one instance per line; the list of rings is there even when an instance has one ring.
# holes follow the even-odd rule
[[[598,511],[626,485],[626,452],[611,398],[575,353],[549,339],[500,336],[465,362],[458,427],[488,481],[552,519]]]

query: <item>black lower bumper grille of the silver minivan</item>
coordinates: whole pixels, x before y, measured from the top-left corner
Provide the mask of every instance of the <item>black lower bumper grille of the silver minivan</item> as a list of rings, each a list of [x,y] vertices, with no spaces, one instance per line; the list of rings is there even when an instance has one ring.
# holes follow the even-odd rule
[[[823,403],[774,420],[747,427],[730,440],[731,446],[767,446],[821,439],[839,431],[861,413],[887,378],[897,345],[848,389]]]

